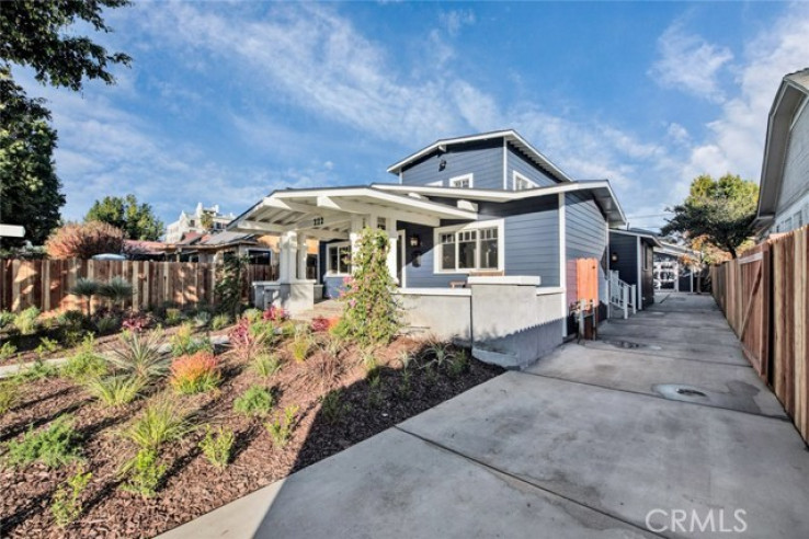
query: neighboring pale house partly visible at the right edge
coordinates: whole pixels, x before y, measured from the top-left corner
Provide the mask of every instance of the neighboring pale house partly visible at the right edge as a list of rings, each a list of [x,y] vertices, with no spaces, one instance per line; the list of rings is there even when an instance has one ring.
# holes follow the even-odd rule
[[[809,69],[784,77],[770,110],[756,225],[761,236],[809,223]]]

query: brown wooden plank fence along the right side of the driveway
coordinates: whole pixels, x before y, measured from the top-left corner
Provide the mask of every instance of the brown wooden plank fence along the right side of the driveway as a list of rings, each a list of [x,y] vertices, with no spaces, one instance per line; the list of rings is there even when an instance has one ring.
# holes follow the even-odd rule
[[[809,227],[710,268],[744,355],[809,441]]]

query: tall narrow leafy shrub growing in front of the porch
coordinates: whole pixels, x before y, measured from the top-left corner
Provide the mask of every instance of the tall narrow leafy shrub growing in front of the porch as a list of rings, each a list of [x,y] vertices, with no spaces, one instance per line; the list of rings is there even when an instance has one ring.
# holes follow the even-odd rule
[[[354,275],[345,279],[345,311],[335,330],[362,346],[387,344],[401,326],[396,283],[388,270],[388,233],[365,228],[352,259]]]

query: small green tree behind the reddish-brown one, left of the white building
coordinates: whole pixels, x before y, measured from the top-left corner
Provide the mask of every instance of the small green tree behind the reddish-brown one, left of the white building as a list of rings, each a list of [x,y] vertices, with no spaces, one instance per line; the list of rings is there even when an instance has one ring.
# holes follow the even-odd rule
[[[138,204],[135,195],[105,196],[95,200],[84,216],[86,221],[102,221],[124,231],[132,240],[157,240],[163,233],[163,222],[149,204]]]

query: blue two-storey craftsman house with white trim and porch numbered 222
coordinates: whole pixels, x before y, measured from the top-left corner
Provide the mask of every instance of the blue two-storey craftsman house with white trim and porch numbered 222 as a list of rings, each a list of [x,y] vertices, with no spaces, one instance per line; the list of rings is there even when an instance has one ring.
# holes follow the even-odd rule
[[[408,323],[471,341],[478,356],[520,364],[559,344],[578,259],[597,261],[597,302],[608,303],[608,229],[625,222],[608,181],[573,181],[511,129],[437,140],[388,172],[396,182],[276,191],[229,225],[281,234],[264,301],[295,313],[316,290],[338,297],[358,234],[377,227]],[[307,239],[320,241],[316,282],[304,278]]]

